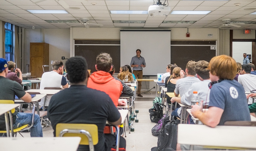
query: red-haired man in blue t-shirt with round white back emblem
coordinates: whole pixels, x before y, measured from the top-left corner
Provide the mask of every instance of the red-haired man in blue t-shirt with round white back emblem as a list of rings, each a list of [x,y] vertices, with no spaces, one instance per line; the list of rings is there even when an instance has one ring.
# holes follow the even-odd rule
[[[226,55],[216,56],[211,59],[208,68],[211,79],[209,110],[202,112],[201,101],[200,106],[192,106],[192,115],[210,127],[224,125],[226,121],[251,121],[244,88],[234,80],[237,69],[235,60]],[[177,145],[177,150],[189,148],[190,145]],[[194,150],[207,148],[194,146]]]

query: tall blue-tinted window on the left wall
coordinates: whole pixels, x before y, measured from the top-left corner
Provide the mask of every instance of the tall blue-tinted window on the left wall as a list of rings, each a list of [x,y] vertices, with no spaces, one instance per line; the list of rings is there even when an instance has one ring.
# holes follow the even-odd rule
[[[4,24],[5,28],[5,60],[14,61],[14,47],[13,47],[13,25],[10,23]]]

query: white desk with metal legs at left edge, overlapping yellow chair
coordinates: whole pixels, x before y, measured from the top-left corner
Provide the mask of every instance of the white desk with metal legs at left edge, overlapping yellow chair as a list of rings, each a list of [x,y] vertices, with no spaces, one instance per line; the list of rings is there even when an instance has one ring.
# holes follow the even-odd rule
[[[9,126],[11,127],[12,137],[14,137],[14,133],[13,133],[13,122],[12,122],[11,110],[14,109],[15,107],[18,107],[19,105],[20,104],[0,104],[0,115],[4,114],[6,129],[9,129]],[[10,125],[9,125],[9,119],[8,119],[8,111],[9,111]],[[7,137],[10,137],[10,132],[7,133]]]

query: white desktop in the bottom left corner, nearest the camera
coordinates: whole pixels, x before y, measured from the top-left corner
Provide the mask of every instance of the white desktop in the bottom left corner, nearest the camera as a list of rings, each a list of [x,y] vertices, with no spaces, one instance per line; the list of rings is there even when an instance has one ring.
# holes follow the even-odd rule
[[[0,145],[3,151],[45,151],[42,144],[47,146],[47,151],[76,151],[80,140],[80,137],[15,137],[0,138]]]

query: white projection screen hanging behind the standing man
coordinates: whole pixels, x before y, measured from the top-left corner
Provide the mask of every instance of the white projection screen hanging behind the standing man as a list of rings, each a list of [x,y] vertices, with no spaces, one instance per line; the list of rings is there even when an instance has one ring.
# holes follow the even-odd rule
[[[130,65],[136,50],[141,50],[146,67],[143,75],[166,73],[171,63],[171,30],[120,30],[120,64]]]

